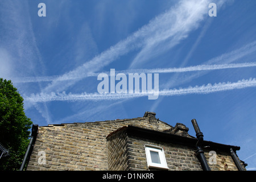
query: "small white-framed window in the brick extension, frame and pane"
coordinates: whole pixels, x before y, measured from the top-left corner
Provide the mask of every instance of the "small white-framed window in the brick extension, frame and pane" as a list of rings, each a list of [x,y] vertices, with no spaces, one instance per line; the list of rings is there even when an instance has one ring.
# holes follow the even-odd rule
[[[162,147],[145,144],[148,168],[168,169]]]

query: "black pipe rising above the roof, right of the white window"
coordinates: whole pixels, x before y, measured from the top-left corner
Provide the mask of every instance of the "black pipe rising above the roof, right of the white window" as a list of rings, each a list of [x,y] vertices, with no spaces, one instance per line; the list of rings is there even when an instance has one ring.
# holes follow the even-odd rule
[[[199,126],[197,125],[196,119],[192,119],[192,124],[193,127],[196,131],[196,138],[197,138],[197,142],[196,142],[196,156],[197,159],[199,159],[199,162],[201,163],[201,166],[203,168],[204,171],[210,171],[210,167],[208,166],[207,160],[204,156],[204,151],[201,148],[202,147],[202,143],[204,141],[204,135],[203,133],[201,133]]]

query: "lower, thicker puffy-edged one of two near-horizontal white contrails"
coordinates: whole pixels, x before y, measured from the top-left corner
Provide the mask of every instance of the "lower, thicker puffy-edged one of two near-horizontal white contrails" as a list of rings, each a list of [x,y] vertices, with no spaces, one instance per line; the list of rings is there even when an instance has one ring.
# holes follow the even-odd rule
[[[234,89],[243,89],[256,86],[256,78],[249,80],[240,80],[238,82],[222,82],[218,84],[208,84],[202,86],[189,86],[188,88],[160,90],[159,96],[181,96],[187,94],[209,94],[214,92],[221,92]],[[112,94],[99,94],[99,93],[82,93],[82,94],[66,94],[63,93],[40,93],[32,94],[30,97],[24,97],[27,101],[31,102],[49,102],[49,101],[100,101],[100,100],[122,100],[127,98],[138,98],[148,96],[152,93],[112,93]]]

